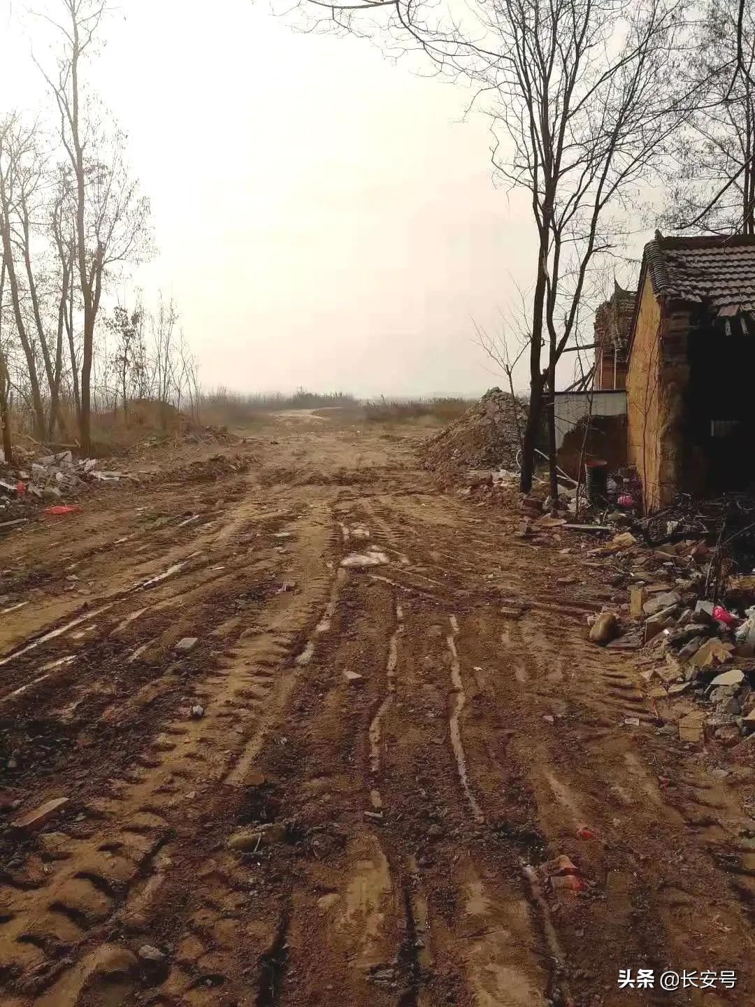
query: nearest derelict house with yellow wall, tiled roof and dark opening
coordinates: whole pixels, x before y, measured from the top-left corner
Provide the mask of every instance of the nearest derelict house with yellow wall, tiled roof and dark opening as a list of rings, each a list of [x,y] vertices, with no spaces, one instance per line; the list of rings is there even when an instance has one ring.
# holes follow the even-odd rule
[[[597,341],[597,339],[596,339]],[[755,238],[645,246],[628,331],[628,461],[645,507],[755,479]]]

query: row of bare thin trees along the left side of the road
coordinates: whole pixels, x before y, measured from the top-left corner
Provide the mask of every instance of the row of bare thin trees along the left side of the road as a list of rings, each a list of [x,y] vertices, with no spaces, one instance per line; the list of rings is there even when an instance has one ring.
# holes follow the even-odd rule
[[[198,397],[176,305],[108,309],[127,264],[152,253],[150,205],[124,133],[89,80],[105,0],[52,0],[35,20],[51,40],[32,51],[45,100],[0,120],[0,421],[92,449],[93,414],[133,398]],[[105,297],[105,304],[104,304]]]

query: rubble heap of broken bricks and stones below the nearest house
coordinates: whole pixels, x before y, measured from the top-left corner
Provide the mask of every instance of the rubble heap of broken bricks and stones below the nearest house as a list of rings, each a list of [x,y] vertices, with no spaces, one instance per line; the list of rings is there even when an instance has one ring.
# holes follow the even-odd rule
[[[659,730],[682,741],[755,739],[754,512],[722,498],[642,523],[616,514],[606,543],[583,543],[585,565],[610,565],[628,592],[591,620],[591,638],[637,652]]]

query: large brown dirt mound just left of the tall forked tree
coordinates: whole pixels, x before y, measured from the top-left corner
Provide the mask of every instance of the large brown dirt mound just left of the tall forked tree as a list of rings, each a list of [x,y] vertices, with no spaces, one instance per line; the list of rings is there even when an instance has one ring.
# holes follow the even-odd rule
[[[425,466],[514,468],[519,447],[516,419],[523,424],[524,414],[520,401],[499,388],[489,389],[463,416],[425,442]]]

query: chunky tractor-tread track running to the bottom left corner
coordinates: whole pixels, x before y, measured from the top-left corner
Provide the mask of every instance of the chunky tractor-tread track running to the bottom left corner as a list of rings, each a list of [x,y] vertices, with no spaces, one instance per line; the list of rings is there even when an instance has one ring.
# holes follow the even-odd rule
[[[326,529],[326,522],[320,524]],[[315,535],[309,548],[314,547],[316,559],[326,542],[327,531],[324,538]],[[194,695],[208,703],[201,719],[162,725],[143,749],[141,764],[113,781],[110,797],[86,807],[92,823],[87,835],[61,841],[51,851],[50,876],[41,884],[27,884],[19,874],[5,879],[0,896],[4,983],[30,996],[49,985],[40,1003],[73,1004],[95,974],[135,971],[133,955],[111,956],[98,934],[121,907],[131,912],[130,895],[141,880],[145,884],[137,894],[142,911],[145,889],[151,899],[158,894],[171,873],[170,858],[160,870],[153,867],[154,858],[176,829],[183,831],[185,845],[186,830],[190,834],[196,828],[179,825],[187,802],[189,808],[202,806],[237,753],[243,760],[264,731],[272,708],[285,703],[285,676],[277,670],[288,655],[293,662],[297,640],[323,604],[329,580],[309,579],[295,600],[291,595],[273,597],[268,630],[240,637],[230,659],[194,686]],[[271,708],[266,710],[266,704]],[[192,812],[189,820],[196,817]],[[65,949],[62,958],[55,953],[58,948]],[[65,965],[58,976],[61,961]]]

